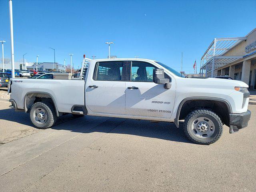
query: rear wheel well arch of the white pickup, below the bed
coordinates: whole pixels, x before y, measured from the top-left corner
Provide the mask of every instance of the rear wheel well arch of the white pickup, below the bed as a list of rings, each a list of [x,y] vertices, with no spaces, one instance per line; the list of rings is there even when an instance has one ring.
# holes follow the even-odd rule
[[[25,101],[24,101],[25,112],[28,112],[29,109],[31,108],[31,106],[36,102],[52,103],[55,110],[56,110],[57,116],[59,116],[59,112],[57,110],[57,107],[56,107],[56,104],[55,104],[54,100],[52,99],[52,96],[49,95],[49,94],[44,94],[44,93],[30,93],[30,94],[27,94],[26,97],[25,97]]]

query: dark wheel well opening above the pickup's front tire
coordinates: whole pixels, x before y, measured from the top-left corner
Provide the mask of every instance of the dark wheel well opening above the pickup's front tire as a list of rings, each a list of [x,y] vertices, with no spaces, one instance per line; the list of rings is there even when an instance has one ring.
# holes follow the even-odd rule
[[[225,102],[215,100],[188,100],[184,102],[180,110],[179,120],[184,120],[193,110],[209,109],[215,112],[222,122],[229,126],[229,108]]]

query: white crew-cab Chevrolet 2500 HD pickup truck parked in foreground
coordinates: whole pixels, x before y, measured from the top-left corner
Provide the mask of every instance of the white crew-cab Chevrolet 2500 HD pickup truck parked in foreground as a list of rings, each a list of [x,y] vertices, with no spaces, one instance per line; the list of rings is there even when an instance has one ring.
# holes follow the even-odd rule
[[[184,120],[186,136],[212,144],[222,126],[234,133],[247,126],[250,93],[241,81],[184,78],[149,59],[84,59],[78,78],[10,80],[10,102],[30,114],[37,128],[50,128],[64,114],[154,121]],[[87,67],[88,66],[88,67]]]

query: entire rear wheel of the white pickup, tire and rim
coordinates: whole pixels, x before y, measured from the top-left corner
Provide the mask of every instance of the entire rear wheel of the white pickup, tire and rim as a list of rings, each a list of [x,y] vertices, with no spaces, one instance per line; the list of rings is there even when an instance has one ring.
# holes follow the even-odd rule
[[[30,120],[39,129],[47,129],[57,120],[55,108],[50,102],[36,102],[30,109]]]

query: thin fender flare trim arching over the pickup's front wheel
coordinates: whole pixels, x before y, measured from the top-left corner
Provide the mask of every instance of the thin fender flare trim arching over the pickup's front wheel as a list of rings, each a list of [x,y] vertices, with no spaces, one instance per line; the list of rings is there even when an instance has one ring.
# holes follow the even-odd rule
[[[186,101],[189,101],[189,100],[213,100],[213,101],[224,102],[224,103],[226,104],[226,106],[228,107],[228,112],[229,112],[229,113],[232,113],[231,105],[230,105],[230,103],[229,103],[227,100],[225,100],[225,99],[216,98],[216,97],[187,97],[187,98],[183,99],[182,102],[180,102],[180,104],[179,104],[179,106],[178,106],[178,110],[177,110],[177,113],[176,113],[176,118],[174,119],[174,123],[175,123],[176,127],[179,127],[179,116],[180,116],[181,108],[182,108],[183,104],[184,104]]]

